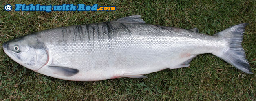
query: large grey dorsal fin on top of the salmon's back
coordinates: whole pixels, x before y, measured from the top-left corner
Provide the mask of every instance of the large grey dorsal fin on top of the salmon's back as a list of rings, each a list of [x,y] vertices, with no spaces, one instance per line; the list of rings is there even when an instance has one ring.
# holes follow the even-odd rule
[[[143,21],[143,19],[141,19],[140,17],[141,17],[140,15],[132,15],[128,17],[122,17],[114,21],[120,22],[120,23],[145,23],[145,21]]]

